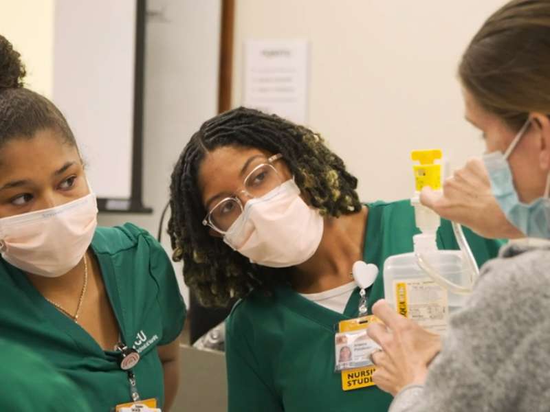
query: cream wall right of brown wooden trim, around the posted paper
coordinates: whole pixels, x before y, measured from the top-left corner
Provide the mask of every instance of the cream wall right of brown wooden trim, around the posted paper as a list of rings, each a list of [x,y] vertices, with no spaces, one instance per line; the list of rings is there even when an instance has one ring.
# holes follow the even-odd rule
[[[236,0],[232,104],[243,41],[311,41],[309,126],[360,179],[364,201],[410,197],[409,153],[442,148],[459,166],[483,145],[463,121],[456,66],[504,0]]]

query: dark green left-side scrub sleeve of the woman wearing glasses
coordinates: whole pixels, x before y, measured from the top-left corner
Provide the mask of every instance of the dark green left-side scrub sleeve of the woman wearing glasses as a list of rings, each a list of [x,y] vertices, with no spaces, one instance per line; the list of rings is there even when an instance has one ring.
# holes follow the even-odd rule
[[[283,412],[272,389],[259,376],[261,365],[245,341],[245,331],[237,330],[236,323],[234,316],[225,321],[228,412]]]

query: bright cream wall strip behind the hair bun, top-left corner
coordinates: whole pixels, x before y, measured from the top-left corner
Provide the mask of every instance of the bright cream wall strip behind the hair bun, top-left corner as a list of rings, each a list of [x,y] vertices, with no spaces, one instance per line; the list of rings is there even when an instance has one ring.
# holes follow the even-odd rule
[[[0,34],[23,56],[27,86],[50,97],[54,69],[54,0],[0,0]]]

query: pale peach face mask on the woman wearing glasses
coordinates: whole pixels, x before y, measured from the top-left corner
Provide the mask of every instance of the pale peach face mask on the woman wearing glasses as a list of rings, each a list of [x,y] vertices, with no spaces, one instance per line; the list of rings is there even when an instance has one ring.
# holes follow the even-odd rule
[[[261,198],[250,199],[223,240],[252,263],[283,268],[314,255],[323,227],[319,211],[300,198],[300,189],[289,180]]]

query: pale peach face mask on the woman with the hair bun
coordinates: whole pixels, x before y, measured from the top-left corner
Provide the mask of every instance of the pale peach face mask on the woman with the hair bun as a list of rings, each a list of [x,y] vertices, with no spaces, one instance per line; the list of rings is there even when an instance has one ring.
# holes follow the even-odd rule
[[[86,253],[97,226],[96,196],[0,219],[0,253],[21,271],[59,277]]]

